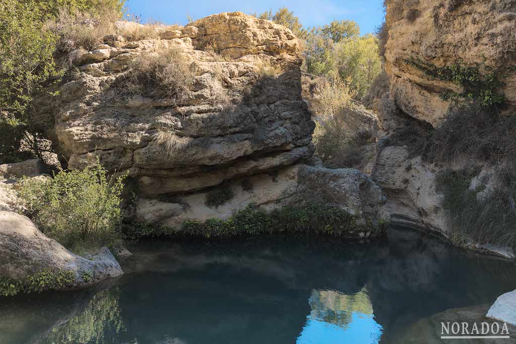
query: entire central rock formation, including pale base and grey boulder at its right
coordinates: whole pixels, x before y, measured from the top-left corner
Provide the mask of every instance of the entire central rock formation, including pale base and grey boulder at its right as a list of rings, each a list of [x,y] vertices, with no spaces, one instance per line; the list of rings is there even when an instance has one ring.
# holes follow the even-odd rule
[[[303,188],[300,171],[310,168],[296,164],[312,156],[315,124],[301,96],[292,32],[233,12],[163,29],[159,37],[106,36],[78,58],[80,73],[60,86],[57,98],[40,100],[38,117],[51,124],[49,134],[68,168],[83,168],[98,156],[108,170],[128,172],[138,194],[137,218],[152,225],[228,218],[250,203],[277,207],[291,190]],[[182,96],[154,80],[134,92],[142,77],[138,64],[170,52],[192,73]],[[350,196],[340,196],[338,206],[359,223],[388,221],[381,210],[385,199],[369,178],[325,173],[333,181],[342,178],[333,192]],[[252,189],[241,187],[245,179]],[[210,188],[221,183],[229,183],[234,199],[206,206]]]

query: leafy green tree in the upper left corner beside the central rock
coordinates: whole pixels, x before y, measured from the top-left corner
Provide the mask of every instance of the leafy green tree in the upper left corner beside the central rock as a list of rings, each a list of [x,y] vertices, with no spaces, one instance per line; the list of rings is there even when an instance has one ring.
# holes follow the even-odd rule
[[[12,162],[22,146],[39,155],[39,135],[29,121],[35,97],[65,71],[55,60],[58,35],[46,28],[63,9],[122,14],[122,0],[2,0],[0,2],[0,162]],[[12,141],[9,141],[9,140]],[[7,140],[7,141],[6,141]],[[26,158],[26,154],[22,154]]]

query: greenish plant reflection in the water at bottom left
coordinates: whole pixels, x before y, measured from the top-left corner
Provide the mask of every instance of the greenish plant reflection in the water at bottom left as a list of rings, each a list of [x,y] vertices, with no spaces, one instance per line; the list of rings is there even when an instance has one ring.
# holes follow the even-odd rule
[[[89,301],[86,308],[68,320],[54,327],[42,344],[95,343],[115,342],[121,331],[125,331],[120,305],[118,288],[101,291]]]

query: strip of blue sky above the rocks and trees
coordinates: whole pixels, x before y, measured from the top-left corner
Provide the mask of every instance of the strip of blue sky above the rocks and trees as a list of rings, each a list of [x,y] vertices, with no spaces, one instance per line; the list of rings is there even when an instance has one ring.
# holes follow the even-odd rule
[[[220,12],[275,12],[286,6],[305,27],[348,19],[360,25],[362,34],[374,32],[384,15],[382,0],[127,0],[126,5],[143,21],[153,19],[166,24],[186,24],[187,13],[199,19]]]

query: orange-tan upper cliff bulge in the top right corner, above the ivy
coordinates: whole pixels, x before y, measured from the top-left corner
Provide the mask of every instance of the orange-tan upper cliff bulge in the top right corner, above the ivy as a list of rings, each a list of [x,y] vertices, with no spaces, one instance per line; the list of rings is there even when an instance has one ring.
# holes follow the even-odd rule
[[[407,0],[386,2],[385,71],[397,106],[433,126],[451,104],[443,92],[461,93],[453,81],[427,77],[410,59],[436,67],[460,64],[505,76],[501,93],[516,105],[516,5],[510,0]]]

